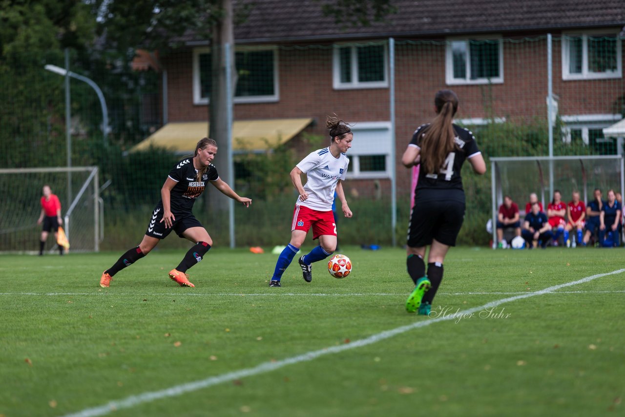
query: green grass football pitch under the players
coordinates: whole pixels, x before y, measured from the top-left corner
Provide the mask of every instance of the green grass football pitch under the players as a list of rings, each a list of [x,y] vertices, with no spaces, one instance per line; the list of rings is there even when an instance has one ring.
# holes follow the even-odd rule
[[[295,263],[282,288],[276,255],[243,249],[211,249],[196,288],[167,278],[181,251],[109,289],[121,252],[0,256],[0,414],[624,414],[621,249],[454,248],[430,318],[404,310],[404,251],[341,253],[348,278],[317,263],[305,283]]]

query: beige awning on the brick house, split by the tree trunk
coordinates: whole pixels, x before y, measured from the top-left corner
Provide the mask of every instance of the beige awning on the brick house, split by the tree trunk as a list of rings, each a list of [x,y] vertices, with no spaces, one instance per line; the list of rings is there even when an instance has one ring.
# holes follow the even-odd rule
[[[274,148],[290,141],[311,124],[312,118],[237,120],[232,123],[232,152],[254,152]],[[208,135],[208,122],[168,123],[130,151],[150,146],[171,149],[176,153],[193,153],[197,141]],[[219,138],[213,138],[219,144]]]

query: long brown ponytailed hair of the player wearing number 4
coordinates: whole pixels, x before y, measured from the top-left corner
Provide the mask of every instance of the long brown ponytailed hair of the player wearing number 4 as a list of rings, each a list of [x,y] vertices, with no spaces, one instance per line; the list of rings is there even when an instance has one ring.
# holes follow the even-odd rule
[[[421,165],[427,174],[437,174],[456,148],[456,132],[452,124],[458,109],[458,96],[451,90],[440,90],[434,97],[436,118],[423,129],[421,141]]]

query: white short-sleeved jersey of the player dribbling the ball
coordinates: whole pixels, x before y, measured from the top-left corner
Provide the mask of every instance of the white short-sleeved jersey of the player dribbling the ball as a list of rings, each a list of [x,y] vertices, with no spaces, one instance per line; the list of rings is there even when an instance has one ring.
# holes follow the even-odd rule
[[[345,154],[334,158],[329,147],[309,153],[296,165],[307,176],[304,191],[308,194],[308,198],[306,201],[301,201],[297,197],[295,205],[306,206],[313,210],[330,211],[336,184],[339,179],[344,181],[347,165],[349,165],[349,158]]]

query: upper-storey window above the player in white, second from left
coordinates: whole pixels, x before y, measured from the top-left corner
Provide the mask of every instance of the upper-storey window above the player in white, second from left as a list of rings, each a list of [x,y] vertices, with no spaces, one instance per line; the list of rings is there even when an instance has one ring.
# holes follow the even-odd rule
[[[334,88],[388,87],[386,56],[386,44],[334,46]]]

